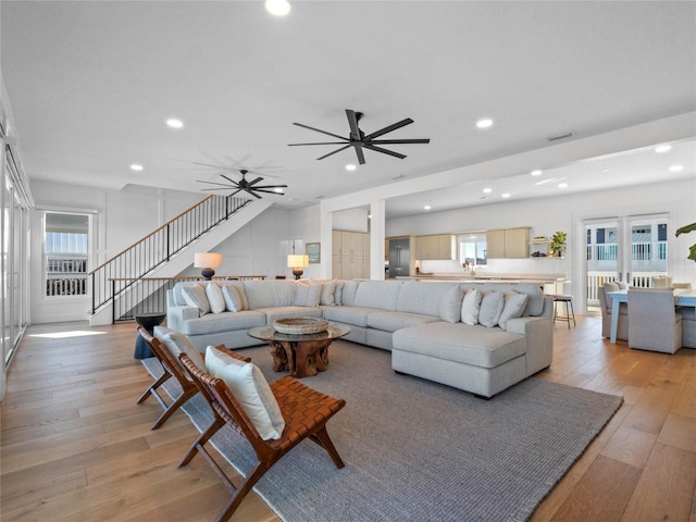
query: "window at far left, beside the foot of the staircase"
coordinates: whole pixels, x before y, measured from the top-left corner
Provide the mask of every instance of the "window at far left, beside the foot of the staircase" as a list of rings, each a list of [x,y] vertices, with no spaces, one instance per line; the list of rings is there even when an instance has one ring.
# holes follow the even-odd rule
[[[46,212],[46,295],[87,295],[89,214]]]

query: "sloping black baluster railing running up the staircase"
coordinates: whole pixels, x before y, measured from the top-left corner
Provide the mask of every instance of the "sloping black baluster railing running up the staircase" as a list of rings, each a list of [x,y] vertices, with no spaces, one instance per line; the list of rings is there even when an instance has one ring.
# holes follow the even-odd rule
[[[88,274],[91,283],[91,313],[249,202],[231,196],[208,196],[97,266]]]

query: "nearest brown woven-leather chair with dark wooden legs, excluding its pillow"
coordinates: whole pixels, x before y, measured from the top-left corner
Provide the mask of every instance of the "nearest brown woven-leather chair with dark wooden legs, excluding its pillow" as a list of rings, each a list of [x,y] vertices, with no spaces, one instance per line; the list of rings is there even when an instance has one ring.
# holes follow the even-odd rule
[[[326,431],[326,422],[346,406],[345,400],[324,395],[303,385],[295,377],[285,375],[270,385],[283,413],[285,430],[279,439],[263,440],[224,381],[199,369],[186,353],[182,353],[179,360],[200,387],[201,395],[210,403],[215,419],[210,427],[191,445],[178,467],[186,465],[200,451],[227,487],[232,496],[215,519],[217,522],[229,520],[259,478],[285,453],[306,438],[323,447],[336,468],[344,468],[344,461]],[[225,424],[232,426],[249,440],[259,461],[239,486],[232,483],[204,447],[210,437]]]

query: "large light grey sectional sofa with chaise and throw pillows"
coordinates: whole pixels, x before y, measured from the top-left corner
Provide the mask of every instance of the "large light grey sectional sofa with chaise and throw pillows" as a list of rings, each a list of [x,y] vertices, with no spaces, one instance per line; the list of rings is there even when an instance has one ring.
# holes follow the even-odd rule
[[[345,339],[390,350],[396,372],[483,397],[551,364],[552,301],[534,284],[270,279],[214,282],[214,289],[209,284],[178,283],[167,295],[167,326],[201,351],[208,345],[258,345],[248,328],[278,318],[323,316],[350,327]],[[217,313],[204,313],[206,303],[191,299],[196,285],[199,295],[201,286],[214,290],[204,293],[211,302],[224,290],[224,310],[217,302]]]

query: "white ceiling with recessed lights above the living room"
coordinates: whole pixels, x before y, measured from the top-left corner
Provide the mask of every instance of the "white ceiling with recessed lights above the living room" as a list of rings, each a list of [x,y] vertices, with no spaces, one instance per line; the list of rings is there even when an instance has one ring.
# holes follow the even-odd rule
[[[601,159],[549,152],[542,164],[554,150],[547,136],[572,130],[556,146],[581,144],[696,111],[693,1],[295,1],[277,18],[260,0],[3,0],[0,22],[3,80],[33,179],[199,191],[197,179],[220,178],[198,163],[244,166],[287,184],[286,196],[268,198],[298,208],[539,152],[542,176],[511,162],[388,200],[393,217],[426,202],[549,196],[557,181],[574,191],[696,172],[693,117],[666,154],[641,140],[627,152],[618,139]],[[345,109],[364,113],[365,134],[412,117],[384,138],[431,144],[390,147],[403,160],[365,151],[352,173],[352,149],[316,161],[334,147],[287,146],[327,138],[293,122],[347,135]],[[166,127],[172,116],[185,127]],[[477,129],[482,117],[493,127]],[[546,179],[555,181],[536,185]]]

